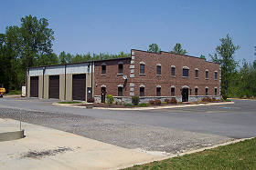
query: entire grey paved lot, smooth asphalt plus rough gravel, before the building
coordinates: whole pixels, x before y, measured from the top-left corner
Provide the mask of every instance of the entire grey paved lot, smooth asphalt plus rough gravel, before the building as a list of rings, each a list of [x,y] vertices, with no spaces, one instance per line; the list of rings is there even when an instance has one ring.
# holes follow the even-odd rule
[[[177,153],[256,135],[256,101],[144,111],[51,105],[56,100],[3,98],[0,118],[21,119],[126,148]]]

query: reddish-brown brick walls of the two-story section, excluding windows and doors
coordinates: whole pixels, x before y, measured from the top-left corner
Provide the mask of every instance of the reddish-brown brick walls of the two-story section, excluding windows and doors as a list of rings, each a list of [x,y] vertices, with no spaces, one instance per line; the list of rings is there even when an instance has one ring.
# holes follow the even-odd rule
[[[127,75],[127,82],[123,75],[118,75],[118,63],[123,62],[123,75]],[[144,75],[140,75],[140,62],[144,62]],[[106,65],[106,74],[101,75],[101,65]],[[161,75],[156,75],[156,65],[161,65]],[[134,68],[133,68],[134,65]],[[176,66],[176,76],[171,76],[171,66]],[[189,67],[189,76],[182,77],[183,66]],[[198,78],[195,78],[195,69],[198,69]],[[208,80],[206,70],[208,69]],[[132,73],[131,73],[132,71]],[[215,80],[215,71],[218,78]],[[101,95],[101,85],[106,85],[107,95],[117,96],[118,85],[123,85],[123,96],[139,95],[140,85],[144,85],[145,96],[156,95],[156,85],[161,85],[161,95],[170,96],[171,86],[176,87],[176,96],[180,96],[180,89],[187,85],[191,89],[189,95],[195,95],[195,86],[198,87],[197,95],[205,95],[208,86],[208,95],[215,95],[214,88],[218,87],[219,95],[219,65],[213,64],[193,56],[175,55],[167,52],[161,54],[147,53],[132,50],[132,58],[116,59],[95,62],[95,95]],[[130,83],[134,87],[130,87]],[[131,89],[133,88],[133,89]]]

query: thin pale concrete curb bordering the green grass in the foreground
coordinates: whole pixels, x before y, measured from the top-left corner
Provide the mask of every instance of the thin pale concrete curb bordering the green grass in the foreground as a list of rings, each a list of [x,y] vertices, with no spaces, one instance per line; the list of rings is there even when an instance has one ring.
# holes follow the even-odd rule
[[[204,150],[213,149],[213,148],[216,148],[216,147],[219,147],[219,146],[222,146],[222,145],[236,144],[236,143],[239,143],[239,142],[241,142],[241,141],[245,141],[245,140],[249,140],[249,139],[253,139],[253,138],[254,138],[254,137],[236,139],[236,140],[232,140],[232,141],[229,141],[229,142],[226,142],[226,143],[222,143],[222,144],[219,144],[219,145],[212,145],[212,146],[203,147],[203,148],[196,149],[196,150],[192,150],[192,151],[187,151],[187,152],[185,152],[185,153],[180,153],[180,154],[176,154],[176,155],[167,155],[167,156],[164,156],[164,157],[161,157],[161,158],[157,158],[157,159],[155,159],[155,160],[153,160],[153,161],[143,162],[143,163],[139,163],[139,164],[136,164],[136,165],[144,165],[144,164],[153,163],[153,162],[155,162],[155,161],[163,161],[163,160],[165,160],[165,159],[177,157],[177,156],[180,156],[180,155],[190,155],[190,154],[202,152],[202,151],[204,151]],[[117,170],[117,169],[124,169],[124,168],[128,168],[128,167],[133,167],[133,165],[120,166],[120,167],[116,167],[115,169],[116,169],[116,170]]]

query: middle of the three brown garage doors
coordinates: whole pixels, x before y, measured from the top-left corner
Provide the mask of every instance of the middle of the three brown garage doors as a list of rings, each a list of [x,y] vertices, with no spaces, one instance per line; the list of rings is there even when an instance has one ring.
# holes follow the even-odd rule
[[[48,97],[59,99],[59,75],[48,76]]]

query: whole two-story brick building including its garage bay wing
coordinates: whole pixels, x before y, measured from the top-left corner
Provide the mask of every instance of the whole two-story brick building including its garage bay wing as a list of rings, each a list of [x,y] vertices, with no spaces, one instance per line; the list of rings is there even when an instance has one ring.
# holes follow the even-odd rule
[[[131,50],[131,57],[28,68],[27,96],[104,102],[141,102],[176,97],[196,101],[220,97],[220,65],[189,55]]]

